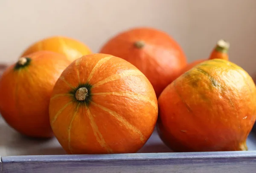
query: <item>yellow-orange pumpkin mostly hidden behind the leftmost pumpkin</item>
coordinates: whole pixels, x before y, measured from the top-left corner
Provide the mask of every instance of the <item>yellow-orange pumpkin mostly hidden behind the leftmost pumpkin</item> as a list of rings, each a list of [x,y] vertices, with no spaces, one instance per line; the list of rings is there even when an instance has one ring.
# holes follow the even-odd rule
[[[38,40],[36,43],[30,45],[21,55],[24,57],[33,52],[40,50],[47,50],[57,52],[65,55],[71,62],[80,58],[82,55],[91,54],[91,50],[81,43],[79,40],[75,40],[70,37],[52,36],[42,40]]]

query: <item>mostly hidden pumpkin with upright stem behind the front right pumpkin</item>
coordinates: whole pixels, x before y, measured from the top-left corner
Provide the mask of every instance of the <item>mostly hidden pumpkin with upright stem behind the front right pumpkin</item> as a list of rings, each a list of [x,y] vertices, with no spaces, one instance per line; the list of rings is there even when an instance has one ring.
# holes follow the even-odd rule
[[[223,60],[229,60],[228,51],[229,51],[230,43],[225,40],[218,40],[216,46],[212,50],[208,60],[212,59],[223,59]],[[200,59],[193,61],[192,63],[189,63],[185,68],[183,68],[179,75],[182,75],[183,73],[187,72],[188,70],[192,69],[194,66],[198,65],[199,63],[202,63],[204,61],[207,61],[207,59]]]

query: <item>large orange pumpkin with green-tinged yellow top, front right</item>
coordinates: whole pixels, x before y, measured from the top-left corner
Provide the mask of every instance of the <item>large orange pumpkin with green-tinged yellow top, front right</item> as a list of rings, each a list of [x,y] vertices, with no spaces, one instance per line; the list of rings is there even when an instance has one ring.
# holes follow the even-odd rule
[[[163,90],[157,130],[176,152],[247,150],[255,103],[256,86],[241,67],[204,61]]]

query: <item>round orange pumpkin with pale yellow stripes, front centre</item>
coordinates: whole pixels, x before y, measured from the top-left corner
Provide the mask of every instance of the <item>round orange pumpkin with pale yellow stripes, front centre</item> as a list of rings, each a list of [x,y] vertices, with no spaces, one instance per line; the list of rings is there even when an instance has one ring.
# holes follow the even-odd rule
[[[56,82],[49,115],[68,154],[134,153],[153,133],[157,98],[148,79],[127,61],[85,55]]]

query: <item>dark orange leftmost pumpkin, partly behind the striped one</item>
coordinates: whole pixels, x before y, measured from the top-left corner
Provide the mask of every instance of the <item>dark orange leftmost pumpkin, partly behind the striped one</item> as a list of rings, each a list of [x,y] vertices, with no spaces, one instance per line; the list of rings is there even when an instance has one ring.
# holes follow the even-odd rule
[[[0,113],[19,133],[49,138],[53,136],[49,123],[52,89],[70,62],[49,51],[27,55],[25,61],[9,66],[1,76]]]

